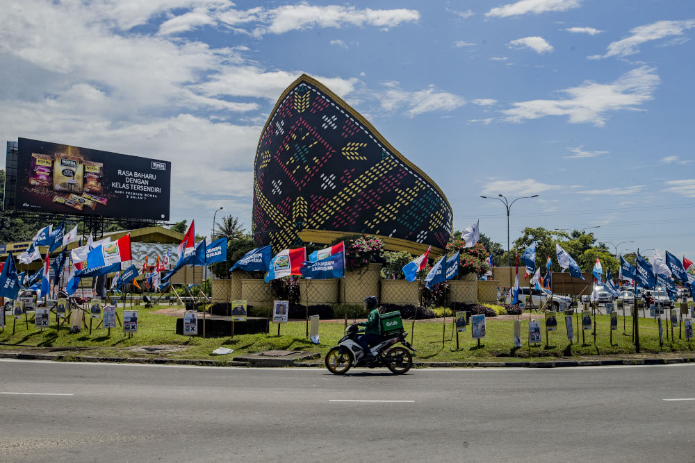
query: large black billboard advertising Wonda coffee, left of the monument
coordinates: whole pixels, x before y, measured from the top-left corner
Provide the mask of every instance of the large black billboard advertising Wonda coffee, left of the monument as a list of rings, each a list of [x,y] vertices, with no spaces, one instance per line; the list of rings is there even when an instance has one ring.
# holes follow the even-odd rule
[[[166,221],[170,190],[169,161],[19,138],[16,210]]]

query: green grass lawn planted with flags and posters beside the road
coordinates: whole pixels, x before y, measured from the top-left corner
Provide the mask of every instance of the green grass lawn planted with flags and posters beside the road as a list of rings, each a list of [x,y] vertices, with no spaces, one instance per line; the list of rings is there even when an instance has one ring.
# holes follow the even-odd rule
[[[157,346],[175,345],[183,349],[176,353],[158,354],[159,357],[189,358],[189,359],[217,359],[221,362],[231,360],[234,356],[242,353],[253,353],[268,349],[295,349],[300,351],[318,351],[322,355],[327,353],[329,348],[334,346],[338,339],[343,336],[343,321],[322,322],[320,323],[320,346],[316,346],[304,337],[304,321],[294,321],[281,326],[281,335],[277,336],[277,327],[272,325],[270,335],[237,335],[234,339],[229,337],[215,337],[202,339],[177,335],[174,333],[176,318],[163,314],[154,313],[160,308],[170,308],[170,306],[156,306],[152,309],[136,307],[140,310],[139,330],[133,337],[125,337],[119,328],[111,330],[111,337],[107,336],[107,330],[93,330],[89,335],[89,330],[71,334],[63,327],[56,330],[55,315],[51,314],[51,328],[43,331],[34,328],[30,323],[26,328],[24,318],[17,320],[15,335],[12,335],[13,317],[7,313],[8,325],[4,332],[0,333],[0,348],[31,348],[31,347],[88,347],[92,348],[81,355],[105,355],[114,357],[129,357],[145,355],[143,353],[132,353],[123,351],[123,348],[133,346]],[[122,309],[117,310],[122,319]],[[30,317],[33,313],[30,312]],[[541,314],[532,314],[534,319],[541,321],[542,343],[528,347],[528,319],[526,312],[521,316],[521,338],[522,348],[514,348],[514,325],[512,319],[487,319],[487,337],[482,339],[481,346],[477,346],[477,341],[471,339],[471,327],[468,326],[466,332],[459,333],[459,350],[452,352],[456,348],[456,336],[452,333],[452,319],[446,319],[447,323],[443,326],[441,321],[417,321],[414,329],[414,347],[417,352],[415,360],[420,362],[450,362],[450,361],[514,361],[514,360],[551,360],[557,357],[579,357],[587,355],[627,355],[635,353],[635,346],[632,344],[630,336],[632,317],[626,318],[626,332],[623,332],[623,317],[619,317],[619,329],[613,331],[613,342],[609,341],[610,325],[607,315],[598,316],[598,332],[596,344],[591,335],[593,330],[584,331],[584,342],[582,342],[582,330],[578,342],[575,340],[569,344],[566,336],[564,318],[558,317],[557,331],[550,332],[548,346],[546,346],[545,321]],[[98,322],[97,322],[98,323]],[[94,323],[94,326],[97,325]],[[199,321],[199,323],[202,323]],[[577,318],[573,317],[575,336],[577,333]],[[408,339],[411,339],[411,321],[404,321],[404,327],[409,332]],[[659,345],[659,335],[656,322],[653,319],[639,319],[639,332],[641,341],[641,353],[672,353],[682,351],[683,353],[693,353],[695,342],[685,340],[685,330],[682,338],[678,339],[678,328],[673,328],[675,341],[669,342],[665,339],[664,345]],[[666,323],[664,323],[664,330]],[[442,345],[442,332],[444,331],[444,345]],[[233,348],[234,353],[225,356],[211,355],[211,351],[219,346]]]

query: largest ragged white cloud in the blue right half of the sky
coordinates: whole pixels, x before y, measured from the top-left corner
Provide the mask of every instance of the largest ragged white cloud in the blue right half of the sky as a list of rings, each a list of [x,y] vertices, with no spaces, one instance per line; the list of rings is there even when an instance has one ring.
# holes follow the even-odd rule
[[[653,99],[659,82],[656,69],[642,66],[628,71],[613,83],[585,81],[578,87],[561,90],[559,93],[566,96],[564,99],[521,101],[512,103],[513,108],[502,112],[511,122],[567,116],[573,124],[591,122],[603,126],[610,112],[639,110],[640,105]]]

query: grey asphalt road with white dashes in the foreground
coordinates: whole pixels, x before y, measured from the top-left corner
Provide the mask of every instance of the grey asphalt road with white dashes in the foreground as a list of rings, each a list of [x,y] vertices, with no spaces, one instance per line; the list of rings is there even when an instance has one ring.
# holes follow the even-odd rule
[[[695,399],[695,366],[338,377],[0,360],[0,461],[692,462],[695,400],[673,398]]]

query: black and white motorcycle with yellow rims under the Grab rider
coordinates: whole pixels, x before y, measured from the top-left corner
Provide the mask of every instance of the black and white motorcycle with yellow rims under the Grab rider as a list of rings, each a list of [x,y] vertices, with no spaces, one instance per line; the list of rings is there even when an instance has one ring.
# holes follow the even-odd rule
[[[338,345],[328,351],[325,360],[328,371],[334,375],[344,375],[352,367],[386,367],[391,370],[391,373],[402,375],[411,369],[413,357],[407,348],[413,352],[415,349],[406,340],[407,332],[384,336],[379,344],[370,348],[375,360],[366,362],[363,358],[364,350],[357,344],[358,329],[357,323],[352,323],[345,330],[345,336],[338,341]],[[393,347],[399,342],[407,348]]]

